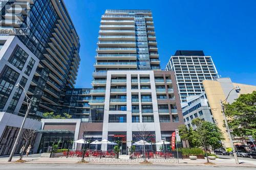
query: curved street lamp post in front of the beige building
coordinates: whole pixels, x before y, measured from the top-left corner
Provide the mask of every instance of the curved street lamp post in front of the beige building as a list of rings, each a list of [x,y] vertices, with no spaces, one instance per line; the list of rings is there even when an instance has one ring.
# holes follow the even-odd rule
[[[229,91],[229,93],[228,93],[228,95],[227,95],[227,98],[228,98],[230,92],[231,92],[232,90],[234,90],[234,89],[236,89],[237,92],[239,92],[239,91],[241,90],[239,86],[237,86],[237,87],[235,87],[235,88],[232,88],[232,89]],[[226,104],[227,98],[226,98],[224,101],[221,100],[221,109],[222,109],[222,114],[223,114],[223,117],[224,117],[224,122],[225,122],[226,130],[227,130],[227,134],[228,134],[228,137],[229,137],[229,140],[230,140],[230,145],[231,145],[231,148],[232,148],[234,160],[236,161],[236,164],[239,164],[238,156],[237,156],[237,153],[236,153],[236,151],[235,151],[235,149],[234,149],[233,139],[232,139],[232,136],[231,136],[231,133],[230,133],[230,129],[229,129],[228,124],[227,124],[227,117],[226,117],[226,115],[225,115],[225,109],[224,109],[224,105],[223,105],[223,102],[225,102],[225,104]]]

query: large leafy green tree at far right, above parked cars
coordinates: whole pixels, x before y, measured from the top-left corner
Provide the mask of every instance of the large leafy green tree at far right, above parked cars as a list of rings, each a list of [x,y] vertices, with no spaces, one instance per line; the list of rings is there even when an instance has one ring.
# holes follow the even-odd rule
[[[256,138],[256,91],[241,94],[232,104],[225,104],[225,115],[232,134]]]

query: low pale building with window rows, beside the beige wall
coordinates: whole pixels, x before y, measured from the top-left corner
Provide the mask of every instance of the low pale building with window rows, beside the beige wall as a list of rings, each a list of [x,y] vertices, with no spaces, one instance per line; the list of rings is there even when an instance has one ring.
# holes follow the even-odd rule
[[[208,106],[208,100],[205,92],[198,95],[190,95],[186,98],[187,102],[182,103],[182,115],[184,118],[184,124],[187,128],[196,129],[192,124],[194,118],[200,118],[204,121],[215,123],[212,116],[210,107]]]

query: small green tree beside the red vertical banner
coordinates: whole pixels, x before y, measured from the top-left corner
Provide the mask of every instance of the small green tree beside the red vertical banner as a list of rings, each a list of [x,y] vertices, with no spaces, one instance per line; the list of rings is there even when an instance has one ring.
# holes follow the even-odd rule
[[[190,127],[187,129],[186,125],[180,125],[178,126],[179,129],[179,134],[180,134],[180,138],[181,140],[187,140],[189,143],[189,147],[195,147],[194,142],[193,142],[193,129]],[[186,148],[187,148],[187,143],[186,144]]]

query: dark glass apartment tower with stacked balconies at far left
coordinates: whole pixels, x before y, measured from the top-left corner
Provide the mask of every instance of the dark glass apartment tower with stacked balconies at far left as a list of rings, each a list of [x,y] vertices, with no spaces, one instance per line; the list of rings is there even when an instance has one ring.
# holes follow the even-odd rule
[[[39,129],[44,112],[61,111],[80,44],[62,0],[3,1],[0,8],[0,155],[7,155],[27,111],[25,95],[33,100],[26,129]]]

